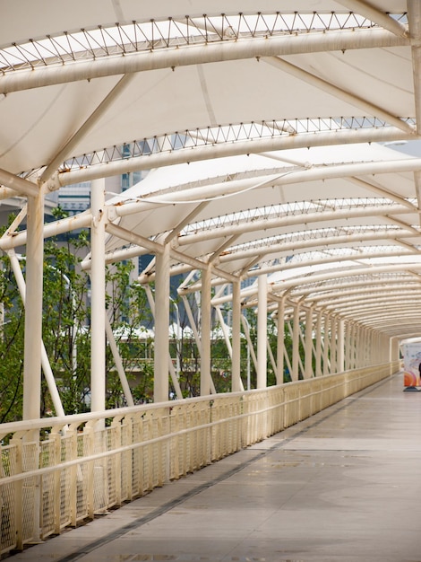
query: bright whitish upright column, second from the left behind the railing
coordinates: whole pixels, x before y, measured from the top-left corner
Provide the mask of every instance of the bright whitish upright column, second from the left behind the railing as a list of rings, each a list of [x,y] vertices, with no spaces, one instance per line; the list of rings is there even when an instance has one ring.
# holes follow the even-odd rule
[[[105,307],[105,180],[90,186],[91,302],[90,302],[90,392],[91,411],[106,408],[106,307]]]

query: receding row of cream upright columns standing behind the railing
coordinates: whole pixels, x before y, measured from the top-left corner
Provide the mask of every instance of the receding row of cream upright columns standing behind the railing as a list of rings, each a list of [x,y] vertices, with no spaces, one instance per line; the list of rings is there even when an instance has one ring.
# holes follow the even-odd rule
[[[91,190],[91,408],[100,411],[106,404],[105,347],[107,317],[105,308],[105,236],[107,213],[104,180],[92,182]],[[28,198],[28,248],[26,272],[25,353],[23,418],[39,417],[40,367],[42,349],[42,277],[43,277],[43,196]],[[201,355],[201,394],[215,392],[211,379],[211,264],[202,269],[200,327],[194,327]],[[164,244],[156,255],[155,362],[154,400],[168,400],[169,377],[172,375],[177,398],[181,398],[178,381],[171,373],[169,357],[169,279],[170,245]],[[278,301],[278,336],[276,360],[269,355],[277,383],[284,380],[285,366],[292,381],[308,379],[328,373],[339,373],[366,364],[383,363],[399,356],[399,342],[393,342],[378,330],[342,320],[331,312],[323,312],[302,301],[292,303],[287,294],[277,296],[268,291],[266,275],[258,277],[257,300],[257,353],[250,349],[257,373],[256,387],[267,386],[268,364],[268,298]],[[240,280],[232,284],[232,340],[228,352],[232,360],[232,391],[242,391],[241,378],[241,324],[242,297]],[[191,321],[193,316],[190,315]],[[292,326],[291,326],[292,320]],[[285,347],[285,328],[292,339],[292,354]],[[246,331],[246,330],[245,330]],[[251,345],[248,338],[248,345]],[[248,387],[247,387],[248,388]]]

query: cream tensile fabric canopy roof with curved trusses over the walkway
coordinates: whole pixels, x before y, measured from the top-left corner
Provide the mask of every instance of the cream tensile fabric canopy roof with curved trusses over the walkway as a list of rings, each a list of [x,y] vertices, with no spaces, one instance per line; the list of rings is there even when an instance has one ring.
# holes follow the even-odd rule
[[[2,196],[150,171],[107,201],[109,261],[170,244],[174,275],[420,335],[421,4],[293,4],[4,0]]]

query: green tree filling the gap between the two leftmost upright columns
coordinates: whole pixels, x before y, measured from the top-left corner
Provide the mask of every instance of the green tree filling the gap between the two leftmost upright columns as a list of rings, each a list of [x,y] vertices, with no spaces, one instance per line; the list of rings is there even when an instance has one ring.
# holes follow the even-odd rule
[[[46,241],[44,251],[42,337],[65,414],[85,411],[90,391],[90,281],[81,268],[88,243],[82,231]],[[45,382],[41,397],[41,415],[55,414]]]

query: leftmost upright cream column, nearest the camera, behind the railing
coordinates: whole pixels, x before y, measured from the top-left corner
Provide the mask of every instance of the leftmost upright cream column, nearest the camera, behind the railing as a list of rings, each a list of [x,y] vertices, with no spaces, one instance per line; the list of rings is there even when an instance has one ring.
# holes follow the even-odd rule
[[[38,419],[41,407],[42,288],[44,196],[28,197],[23,419]]]

